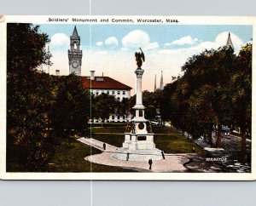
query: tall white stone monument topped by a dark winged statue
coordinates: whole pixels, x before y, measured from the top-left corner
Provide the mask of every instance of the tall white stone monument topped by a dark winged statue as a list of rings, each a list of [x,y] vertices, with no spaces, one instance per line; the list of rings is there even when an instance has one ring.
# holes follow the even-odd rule
[[[135,53],[137,61],[137,92],[136,92],[136,105],[132,107],[135,110],[135,117],[127,123],[125,131],[125,142],[123,146],[118,148],[113,157],[120,160],[128,161],[148,161],[163,159],[161,151],[155,147],[154,133],[152,131],[151,123],[144,117],[143,106],[143,91],[142,91],[142,69],[145,56],[143,50]]]

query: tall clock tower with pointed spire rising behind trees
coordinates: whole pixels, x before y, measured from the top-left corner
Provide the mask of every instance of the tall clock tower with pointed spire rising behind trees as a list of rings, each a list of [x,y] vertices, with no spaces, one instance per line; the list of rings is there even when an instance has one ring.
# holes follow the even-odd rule
[[[68,49],[69,74],[81,76],[82,50],[80,49],[80,37],[75,26],[73,35],[70,36],[70,49]]]

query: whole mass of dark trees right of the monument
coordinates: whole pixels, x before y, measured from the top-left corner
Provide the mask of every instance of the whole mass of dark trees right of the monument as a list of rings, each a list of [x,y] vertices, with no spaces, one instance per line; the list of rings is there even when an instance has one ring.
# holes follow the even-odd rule
[[[161,115],[196,139],[205,136],[212,144],[212,129],[218,129],[216,146],[221,146],[222,126],[251,131],[252,44],[238,55],[232,49],[205,50],[193,55],[182,67],[183,76],[162,91]],[[245,151],[245,137],[241,150]],[[245,152],[243,152],[245,153]]]

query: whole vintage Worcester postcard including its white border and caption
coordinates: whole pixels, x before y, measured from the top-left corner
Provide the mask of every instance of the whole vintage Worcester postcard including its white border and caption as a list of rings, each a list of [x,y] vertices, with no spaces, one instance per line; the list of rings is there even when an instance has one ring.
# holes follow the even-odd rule
[[[2,179],[256,179],[255,17],[0,21]]]

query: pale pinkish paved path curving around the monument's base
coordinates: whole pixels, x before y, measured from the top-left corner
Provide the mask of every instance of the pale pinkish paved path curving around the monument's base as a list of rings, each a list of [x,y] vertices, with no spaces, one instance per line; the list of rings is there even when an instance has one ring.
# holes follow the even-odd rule
[[[103,150],[103,142],[92,138],[79,138],[80,142],[93,146],[102,151],[100,154],[84,157],[91,163],[99,163],[125,169],[133,169],[141,172],[184,172],[187,170],[183,164],[189,162],[191,154],[166,154],[166,159],[154,160],[152,169],[148,169],[148,162],[123,161],[113,157],[113,152],[118,148],[106,143],[106,150]]]

